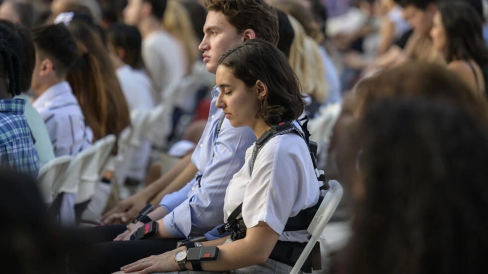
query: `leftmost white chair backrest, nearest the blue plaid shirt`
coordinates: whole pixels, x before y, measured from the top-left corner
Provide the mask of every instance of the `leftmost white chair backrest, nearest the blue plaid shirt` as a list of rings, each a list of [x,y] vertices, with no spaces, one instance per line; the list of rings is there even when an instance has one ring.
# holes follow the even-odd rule
[[[71,156],[65,155],[52,159],[40,168],[39,175],[37,176],[37,182],[45,203],[52,203],[52,186],[61,179],[63,174],[68,169],[70,161]]]

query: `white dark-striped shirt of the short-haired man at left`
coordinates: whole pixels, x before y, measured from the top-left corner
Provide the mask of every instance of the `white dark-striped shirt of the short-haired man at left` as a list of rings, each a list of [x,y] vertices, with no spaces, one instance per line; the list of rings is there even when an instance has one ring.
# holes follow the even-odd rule
[[[32,106],[46,124],[56,157],[75,155],[92,143],[93,132],[85,125],[85,116],[68,82],[49,87]]]

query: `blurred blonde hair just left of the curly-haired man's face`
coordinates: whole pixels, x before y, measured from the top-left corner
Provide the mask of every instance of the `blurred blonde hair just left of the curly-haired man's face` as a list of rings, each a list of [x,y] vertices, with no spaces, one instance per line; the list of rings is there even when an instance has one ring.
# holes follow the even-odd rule
[[[164,11],[163,28],[183,45],[186,54],[186,73],[199,57],[198,42],[186,8],[177,0],[168,0]]]

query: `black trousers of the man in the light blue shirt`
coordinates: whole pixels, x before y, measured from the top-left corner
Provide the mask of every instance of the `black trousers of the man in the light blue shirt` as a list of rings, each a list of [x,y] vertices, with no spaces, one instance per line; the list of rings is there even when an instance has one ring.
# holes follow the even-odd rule
[[[91,254],[88,259],[88,273],[110,274],[137,260],[159,255],[176,248],[181,239],[145,239],[114,242],[124,232],[125,225],[97,226],[84,230],[90,239]],[[72,258],[73,259],[73,258]],[[75,259],[76,260],[76,259]]]

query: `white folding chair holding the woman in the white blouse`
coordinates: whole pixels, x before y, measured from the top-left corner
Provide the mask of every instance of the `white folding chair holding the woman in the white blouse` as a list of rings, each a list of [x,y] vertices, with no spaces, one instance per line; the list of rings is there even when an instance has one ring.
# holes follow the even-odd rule
[[[300,271],[307,260],[308,255],[310,255],[310,252],[315,246],[315,243],[319,240],[320,235],[324,231],[325,225],[329,222],[332,214],[334,214],[334,211],[341,201],[343,193],[342,186],[335,180],[329,181],[329,185],[330,188],[327,190],[317,213],[315,213],[312,222],[307,228],[308,233],[311,235],[310,240],[300,254],[300,257],[298,257],[290,274],[297,274]]]

